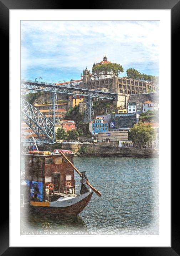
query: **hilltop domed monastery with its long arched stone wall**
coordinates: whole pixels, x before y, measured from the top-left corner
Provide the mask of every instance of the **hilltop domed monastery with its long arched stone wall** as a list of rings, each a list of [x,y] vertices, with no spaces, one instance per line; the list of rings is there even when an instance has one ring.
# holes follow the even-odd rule
[[[110,62],[105,55],[102,61],[94,63],[92,73],[87,68],[83,70],[79,88],[117,93],[126,95],[126,97],[129,97],[130,94],[148,93],[148,89],[152,88],[152,85],[146,81],[119,77],[121,72],[123,72],[123,67],[120,64]],[[153,89],[156,92],[159,91],[155,85],[153,85]],[[120,97],[119,95],[118,97]],[[124,105],[123,97],[122,101],[118,99],[119,104]]]

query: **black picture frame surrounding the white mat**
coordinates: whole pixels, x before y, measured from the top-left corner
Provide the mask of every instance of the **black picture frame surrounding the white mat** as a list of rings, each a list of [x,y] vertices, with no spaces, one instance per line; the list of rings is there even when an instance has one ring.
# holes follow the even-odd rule
[[[178,58],[179,53],[179,28],[180,28],[180,0],[111,0],[111,1],[94,1],[89,3],[91,6],[83,4],[78,5],[77,2],[71,3],[71,8],[68,8],[68,3],[61,3],[56,0],[0,0],[0,24],[1,24],[1,51],[5,53],[3,58],[3,77],[2,84],[7,85],[9,81],[9,10],[13,9],[169,9],[171,10],[171,38],[172,50],[171,61],[172,64]],[[78,8],[79,7],[79,8]],[[173,79],[177,77],[179,65],[174,65],[171,70],[172,85]],[[3,81],[4,79],[4,81]],[[6,93],[8,88],[6,86]],[[7,104],[7,102],[6,102]],[[172,127],[173,128],[173,127]],[[173,138],[172,138],[173,141]],[[7,145],[6,141],[6,145]],[[4,148],[4,147],[3,147]],[[7,170],[6,170],[7,171]],[[4,175],[4,173],[3,173]],[[5,172],[4,180],[8,181],[9,173]],[[171,247],[120,247],[120,252],[125,250],[126,253],[133,255],[159,255],[159,256],[176,256],[180,255],[180,236],[179,236],[179,210],[177,206],[179,199],[176,201],[176,195],[179,195],[179,181],[176,172],[171,173]],[[7,183],[7,182],[6,182]],[[7,190],[8,191],[8,190]],[[6,200],[7,200],[6,195]],[[5,199],[5,198],[4,198]],[[1,197],[2,200],[2,197]],[[5,200],[4,200],[5,201]],[[42,248],[34,247],[9,247],[9,202],[4,202],[1,205],[3,209],[3,218],[1,217],[1,234],[0,234],[0,253],[3,256],[9,255],[36,255]],[[2,202],[2,201],[1,201]],[[3,207],[3,208],[2,208]],[[118,247],[118,246],[117,246]],[[46,253],[49,248],[46,248]]]

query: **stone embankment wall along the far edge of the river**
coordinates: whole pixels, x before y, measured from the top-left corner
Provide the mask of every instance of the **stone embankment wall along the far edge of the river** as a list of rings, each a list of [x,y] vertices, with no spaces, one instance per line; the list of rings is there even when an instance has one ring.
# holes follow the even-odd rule
[[[159,151],[151,148],[114,147],[87,143],[55,143],[39,146],[42,151],[52,149],[72,150],[81,157],[143,157],[158,158]]]

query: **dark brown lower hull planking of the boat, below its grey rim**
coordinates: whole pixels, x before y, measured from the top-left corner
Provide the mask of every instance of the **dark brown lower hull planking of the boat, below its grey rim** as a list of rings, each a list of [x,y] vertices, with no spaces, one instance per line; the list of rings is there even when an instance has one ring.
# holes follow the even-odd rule
[[[51,215],[68,215],[68,216],[77,216],[84,208],[88,205],[91,200],[93,192],[88,193],[88,195],[80,200],[77,203],[74,203],[70,206],[61,207],[61,206],[31,206],[33,211],[40,214],[51,214]]]

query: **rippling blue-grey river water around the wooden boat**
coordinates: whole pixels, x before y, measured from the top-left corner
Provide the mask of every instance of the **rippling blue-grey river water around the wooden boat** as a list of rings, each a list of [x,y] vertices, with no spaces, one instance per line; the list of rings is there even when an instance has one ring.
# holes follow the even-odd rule
[[[21,235],[159,235],[159,159],[74,157],[102,196],[93,193],[73,218],[22,212]],[[76,184],[80,177],[74,173]]]

